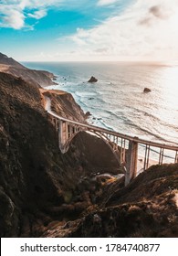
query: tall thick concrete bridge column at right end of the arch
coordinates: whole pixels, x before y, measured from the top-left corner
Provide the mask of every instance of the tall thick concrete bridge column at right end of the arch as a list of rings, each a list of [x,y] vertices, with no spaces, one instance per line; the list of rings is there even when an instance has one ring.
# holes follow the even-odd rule
[[[126,157],[125,186],[137,175],[138,143],[130,141]]]

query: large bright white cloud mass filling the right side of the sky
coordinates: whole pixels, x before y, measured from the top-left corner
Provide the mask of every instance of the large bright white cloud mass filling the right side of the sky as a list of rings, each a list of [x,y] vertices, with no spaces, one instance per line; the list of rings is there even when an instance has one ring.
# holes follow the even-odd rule
[[[78,28],[68,39],[90,55],[95,55],[96,49],[105,49],[104,54],[111,59],[176,59],[178,1],[172,0],[172,5],[168,2],[137,0],[122,14],[91,29]],[[100,58],[104,55],[99,50],[97,53]]]

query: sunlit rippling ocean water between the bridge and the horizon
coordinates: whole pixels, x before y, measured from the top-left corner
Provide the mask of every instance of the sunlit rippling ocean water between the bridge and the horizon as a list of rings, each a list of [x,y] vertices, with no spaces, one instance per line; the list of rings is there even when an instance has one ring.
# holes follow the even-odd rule
[[[58,76],[89,123],[142,139],[178,144],[178,66],[121,62],[26,62]],[[91,76],[97,83],[89,83]],[[144,93],[145,87],[152,91]]]

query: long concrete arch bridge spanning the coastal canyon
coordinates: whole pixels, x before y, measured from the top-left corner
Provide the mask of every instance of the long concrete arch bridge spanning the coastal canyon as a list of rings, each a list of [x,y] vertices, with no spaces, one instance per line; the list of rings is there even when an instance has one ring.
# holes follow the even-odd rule
[[[112,132],[88,123],[80,123],[58,116],[51,111],[51,101],[46,98],[46,110],[51,115],[58,133],[58,146],[65,154],[71,141],[80,132],[87,132],[101,138],[115,155],[120,169],[125,175],[125,185],[139,172],[146,170],[150,165],[163,163],[178,163],[178,145],[159,144],[138,137]]]

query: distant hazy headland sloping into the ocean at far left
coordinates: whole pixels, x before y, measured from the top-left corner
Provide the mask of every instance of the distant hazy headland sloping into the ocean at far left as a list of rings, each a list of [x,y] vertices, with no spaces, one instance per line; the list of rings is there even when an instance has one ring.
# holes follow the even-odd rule
[[[52,73],[44,70],[27,69],[15,59],[8,58],[2,53],[0,53],[0,71],[21,77],[37,87],[56,84],[53,81],[55,76]]]

